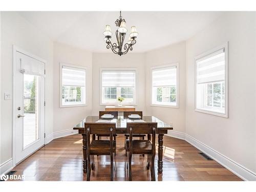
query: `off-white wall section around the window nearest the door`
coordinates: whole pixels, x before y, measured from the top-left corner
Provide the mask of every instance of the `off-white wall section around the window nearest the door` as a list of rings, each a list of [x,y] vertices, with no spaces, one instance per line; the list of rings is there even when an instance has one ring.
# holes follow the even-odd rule
[[[53,103],[54,120],[53,132],[73,129],[74,125],[91,115],[92,111],[92,53],[86,50],[70,47],[54,42],[54,78],[53,78]],[[70,108],[59,108],[59,63],[69,63],[72,65],[87,68],[87,106]]]

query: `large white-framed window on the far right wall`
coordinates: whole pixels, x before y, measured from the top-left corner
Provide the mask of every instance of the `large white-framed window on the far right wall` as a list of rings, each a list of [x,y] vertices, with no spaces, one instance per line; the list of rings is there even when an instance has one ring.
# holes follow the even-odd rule
[[[227,117],[227,45],[196,58],[196,111]]]

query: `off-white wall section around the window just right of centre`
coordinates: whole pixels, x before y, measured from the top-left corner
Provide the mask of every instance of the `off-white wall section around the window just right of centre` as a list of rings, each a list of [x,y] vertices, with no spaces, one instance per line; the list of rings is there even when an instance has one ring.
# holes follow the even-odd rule
[[[170,45],[161,49],[146,53],[146,111],[148,115],[153,115],[166,123],[172,123],[177,132],[185,132],[185,98],[186,98],[186,43]],[[151,106],[151,68],[171,63],[179,62],[179,108],[165,108]]]

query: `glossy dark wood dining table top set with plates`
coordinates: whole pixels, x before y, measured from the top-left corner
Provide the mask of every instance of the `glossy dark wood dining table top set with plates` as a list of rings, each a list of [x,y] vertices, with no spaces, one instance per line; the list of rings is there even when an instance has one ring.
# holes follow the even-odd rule
[[[88,116],[86,119],[80,121],[77,125],[74,126],[74,130],[78,130],[80,134],[84,133],[84,123],[85,122],[99,122],[99,123],[116,123],[116,132],[117,134],[125,134],[126,131],[126,122],[148,122],[154,123],[157,122],[157,133],[166,134],[167,130],[173,130],[173,127],[160,119],[154,116],[143,116],[142,119],[130,119],[118,117],[113,119],[100,119],[98,116]]]

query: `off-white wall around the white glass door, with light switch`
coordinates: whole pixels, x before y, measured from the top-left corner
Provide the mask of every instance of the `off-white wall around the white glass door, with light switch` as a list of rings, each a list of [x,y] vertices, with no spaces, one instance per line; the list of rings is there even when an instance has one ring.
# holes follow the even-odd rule
[[[12,46],[47,61],[46,64],[46,135],[53,132],[53,42],[15,12],[1,14],[1,95],[12,95]],[[12,158],[12,100],[1,97],[1,159]]]

